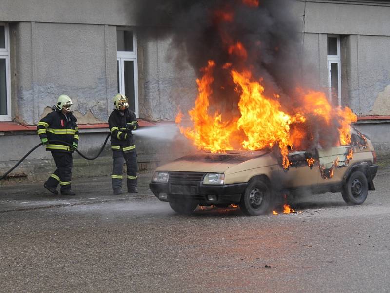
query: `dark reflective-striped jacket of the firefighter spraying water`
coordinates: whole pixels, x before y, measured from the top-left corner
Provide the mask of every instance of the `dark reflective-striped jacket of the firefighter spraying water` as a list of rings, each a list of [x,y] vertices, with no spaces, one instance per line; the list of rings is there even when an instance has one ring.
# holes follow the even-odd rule
[[[139,125],[133,111],[126,109],[122,114],[119,110],[114,110],[108,118],[108,126],[111,131],[111,149],[113,151],[122,149],[124,153],[128,153],[136,149],[131,131],[136,130]],[[126,127],[126,124],[130,125],[130,129]]]

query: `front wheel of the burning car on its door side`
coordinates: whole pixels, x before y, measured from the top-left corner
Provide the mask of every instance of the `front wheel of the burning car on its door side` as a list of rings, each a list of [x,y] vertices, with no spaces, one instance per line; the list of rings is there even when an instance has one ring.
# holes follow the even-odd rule
[[[271,207],[271,188],[262,180],[250,181],[241,196],[240,209],[249,216],[266,214]]]

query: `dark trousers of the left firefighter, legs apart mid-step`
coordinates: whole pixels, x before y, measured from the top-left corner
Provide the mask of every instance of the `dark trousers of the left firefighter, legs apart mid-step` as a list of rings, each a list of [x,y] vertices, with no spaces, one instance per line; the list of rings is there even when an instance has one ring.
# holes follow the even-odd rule
[[[50,175],[46,185],[52,188],[61,186],[61,192],[71,189],[73,157],[71,153],[52,151],[57,169]]]

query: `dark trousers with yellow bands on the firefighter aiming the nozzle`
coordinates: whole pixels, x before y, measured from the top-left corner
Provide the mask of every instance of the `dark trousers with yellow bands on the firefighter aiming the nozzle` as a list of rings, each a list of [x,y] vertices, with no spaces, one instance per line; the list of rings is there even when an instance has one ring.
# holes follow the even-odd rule
[[[111,175],[113,190],[122,188],[123,164],[125,162],[127,167],[127,190],[136,189],[138,183],[136,150],[128,153],[124,153],[123,150],[113,151],[113,159],[113,174]]]

